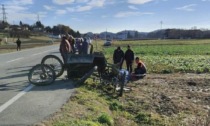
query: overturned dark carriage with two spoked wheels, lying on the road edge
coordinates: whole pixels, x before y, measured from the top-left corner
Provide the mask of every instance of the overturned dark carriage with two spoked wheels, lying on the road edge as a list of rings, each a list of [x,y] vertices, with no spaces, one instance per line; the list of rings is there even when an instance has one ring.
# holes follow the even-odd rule
[[[106,59],[101,52],[69,53],[65,64],[55,55],[46,55],[42,58],[41,64],[34,66],[29,71],[28,79],[35,85],[48,85],[66,70],[68,79],[80,79],[81,82],[85,81],[94,71],[100,75],[105,71],[105,68]]]

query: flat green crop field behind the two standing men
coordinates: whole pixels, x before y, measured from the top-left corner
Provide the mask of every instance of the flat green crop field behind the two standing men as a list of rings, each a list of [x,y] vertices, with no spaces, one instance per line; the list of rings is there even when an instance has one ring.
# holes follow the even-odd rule
[[[101,45],[100,41],[98,43]],[[148,73],[210,71],[210,40],[114,41],[112,46],[102,47],[108,62],[112,62],[112,54],[117,46],[126,51],[128,44],[135,56],[145,62]]]

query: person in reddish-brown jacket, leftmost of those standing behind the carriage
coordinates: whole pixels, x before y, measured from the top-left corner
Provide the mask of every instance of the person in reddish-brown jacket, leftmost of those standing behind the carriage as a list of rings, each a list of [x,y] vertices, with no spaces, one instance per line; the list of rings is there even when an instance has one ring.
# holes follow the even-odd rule
[[[69,44],[69,41],[67,40],[66,36],[62,37],[59,50],[60,50],[61,56],[63,58],[63,62],[64,62],[64,64],[66,64],[68,53],[70,53],[72,51],[71,45]]]

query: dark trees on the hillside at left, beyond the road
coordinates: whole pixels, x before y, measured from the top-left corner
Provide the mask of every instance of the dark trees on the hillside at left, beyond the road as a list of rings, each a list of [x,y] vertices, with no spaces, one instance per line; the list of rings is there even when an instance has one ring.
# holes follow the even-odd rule
[[[28,38],[32,34],[70,34],[74,37],[81,37],[79,31],[74,31],[69,26],[58,24],[53,27],[44,26],[41,21],[37,21],[33,25],[24,24],[22,21],[19,22],[19,25],[11,25],[7,22],[0,22],[0,30],[7,32],[9,37],[24,37]]]

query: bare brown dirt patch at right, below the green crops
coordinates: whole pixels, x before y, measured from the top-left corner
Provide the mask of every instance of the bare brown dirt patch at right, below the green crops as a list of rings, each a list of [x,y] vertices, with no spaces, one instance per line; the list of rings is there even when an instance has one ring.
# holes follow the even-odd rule
[[[143,110],[169,118],[182,114],[186,116],[183,120],[192,120],[210,111],[209,74],[148,74],[128,85],[132,91],[121,100],[131,113]],[[131,101],[138,106],[136,110],[130,110],[135,108]]]

